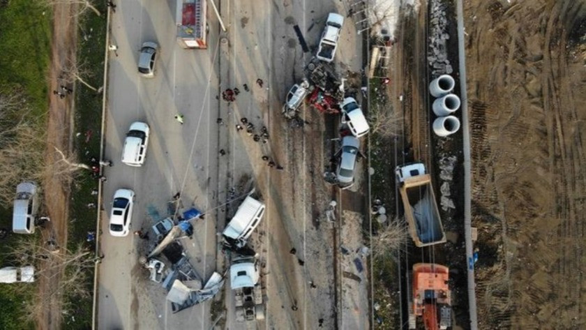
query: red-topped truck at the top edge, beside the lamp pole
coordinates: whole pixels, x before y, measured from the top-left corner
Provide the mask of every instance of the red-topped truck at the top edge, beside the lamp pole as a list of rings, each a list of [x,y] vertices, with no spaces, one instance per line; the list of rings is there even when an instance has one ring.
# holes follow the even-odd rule
[[[177,0],[177,43],[186,49],[207,48],[207,1]]]

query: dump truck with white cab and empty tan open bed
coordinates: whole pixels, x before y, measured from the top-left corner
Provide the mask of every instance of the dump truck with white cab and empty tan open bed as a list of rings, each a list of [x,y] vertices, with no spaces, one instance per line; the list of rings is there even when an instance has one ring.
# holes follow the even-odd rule
[[[435,202],[430,174],[423,163],[400,165],[396,179],[405,208],[411,238],[418,247],[446,241],[446,233]]]

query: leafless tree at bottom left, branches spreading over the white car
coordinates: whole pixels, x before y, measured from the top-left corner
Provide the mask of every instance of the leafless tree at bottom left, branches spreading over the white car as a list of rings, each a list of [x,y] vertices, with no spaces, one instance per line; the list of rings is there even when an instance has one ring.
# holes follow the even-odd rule
[[[26,313],[22,316],[27,320],[36,318],[55,303],[61,303],[61,297],[69,294],[75,298],[91,297],[89,275],[94,267],[93,253],[83,245],[73,250],[52,248],[38,238],[22,239],[8,254],[8,258],[19,266],[33,265],[36,269],[37,281],[59,278],[57,285],[49,285],[49,292],[37,292],[31,303],[24,303]],[[15,283],[10,286],[15,292],[26,295],[30,288],[28,283]],[[63,306],[63,314],[67,314],[72,306]]]

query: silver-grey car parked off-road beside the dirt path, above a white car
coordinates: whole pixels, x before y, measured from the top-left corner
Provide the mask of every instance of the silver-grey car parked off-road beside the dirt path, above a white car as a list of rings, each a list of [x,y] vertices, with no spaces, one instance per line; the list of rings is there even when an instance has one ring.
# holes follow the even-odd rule
[[[22,182],[16,186],[13,210],[13,232],[33,234],[38,211],[38,187],[34,182]]]

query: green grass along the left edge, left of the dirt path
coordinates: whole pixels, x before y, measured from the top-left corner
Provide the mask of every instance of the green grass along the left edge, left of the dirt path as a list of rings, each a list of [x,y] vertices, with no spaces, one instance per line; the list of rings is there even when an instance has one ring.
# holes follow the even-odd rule
[[[40,117],[45,125],[47,113],[47,69],[50,63],[50,10],[38,1],[10,0],[0,5],[0,93],[22,93],[31,116]],[[15,187],[16,188],[16,187]],[[0,228],[12,231],[12,206],[0,206]],[[1,240],[0,267],[20,266],[6,253],[22,239],[9,234]],[[29,285],[31,295],[17,294],[11,286]],[[0,329],[33,329],[33,324],[22,323],[22,304],[31,301],[36,285],[0,284]]]

